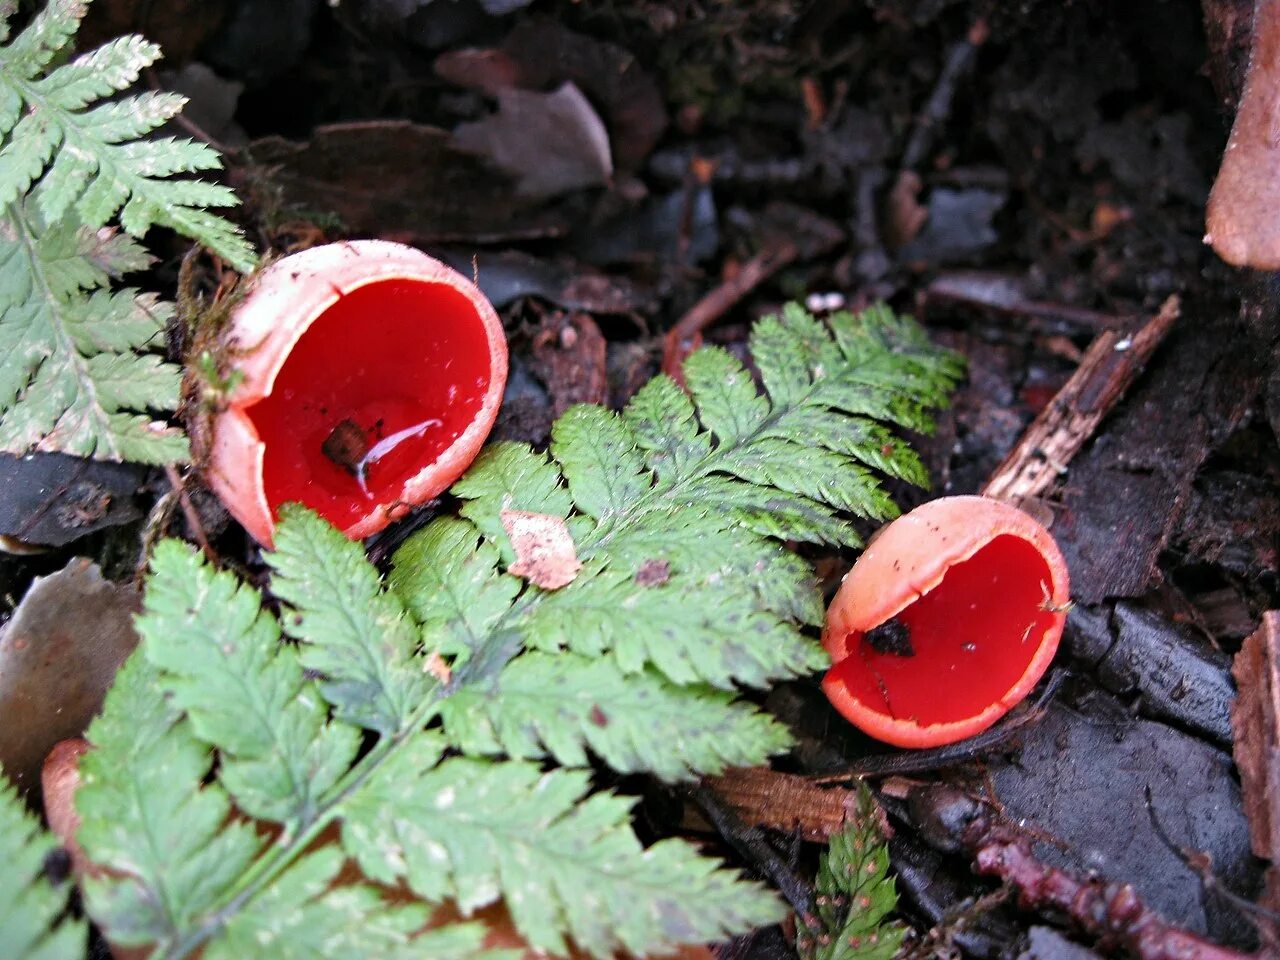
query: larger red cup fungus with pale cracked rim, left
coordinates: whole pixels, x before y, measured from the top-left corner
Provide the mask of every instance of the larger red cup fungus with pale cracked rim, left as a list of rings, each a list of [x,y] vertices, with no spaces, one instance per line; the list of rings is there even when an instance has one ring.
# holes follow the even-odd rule
[[[278,260],[225,335],[239,379],[212,416],[206,475],[268,547],[284,503],[357,539],[445,490],[480,452],[507,381],[484,294],[385,241]]]

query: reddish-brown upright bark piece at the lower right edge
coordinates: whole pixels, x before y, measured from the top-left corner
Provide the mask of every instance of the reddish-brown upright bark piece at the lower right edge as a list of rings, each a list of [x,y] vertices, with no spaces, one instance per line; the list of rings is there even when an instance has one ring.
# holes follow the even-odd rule
[[[1240,772],[1244,813],[1253,852],[1276,860],[1280,851],[1280,612],[1268,611],[1248,636],[1231,669],[1239,696],[1231,708],[1235,765]],[[1280,910],[1280,867],[1266,872],[1262,906]],[[1274,925],[1260,924],[1263,942],[1280,954]]]

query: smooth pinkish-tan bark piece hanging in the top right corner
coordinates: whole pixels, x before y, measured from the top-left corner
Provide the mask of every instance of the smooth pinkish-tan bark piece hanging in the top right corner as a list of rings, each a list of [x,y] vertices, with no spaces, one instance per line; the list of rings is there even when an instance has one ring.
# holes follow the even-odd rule
[[[1280,269],[1280,0],[1257,0],[1231,138],[1208,197],[1204,242],[1234,266]]]

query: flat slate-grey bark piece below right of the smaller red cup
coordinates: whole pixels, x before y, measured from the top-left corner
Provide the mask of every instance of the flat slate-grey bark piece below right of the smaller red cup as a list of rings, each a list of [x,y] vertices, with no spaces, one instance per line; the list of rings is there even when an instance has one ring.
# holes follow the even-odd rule
[[[1230,754],[1102,694],[1079,707],[1055,704],[1015,758],[988,763],[1001,815],[1025,826],[1042,863],[1132,886],[1179,927],[1247,946],[1249,919],[1183,855],[1207,858],[1215,883],[1240,896],[1261,879]]]

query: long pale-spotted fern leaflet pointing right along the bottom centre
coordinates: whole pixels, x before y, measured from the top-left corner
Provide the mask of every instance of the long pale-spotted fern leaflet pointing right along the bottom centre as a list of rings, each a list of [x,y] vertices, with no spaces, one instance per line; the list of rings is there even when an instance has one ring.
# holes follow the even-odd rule
[[[343,842],[365,873],[468,911],[503,897],[516,928],[605,957],[713,941],[778,919],[777,900],[681,841],[643,849],[630,801],[586,796],[586,773],[454,758],[419,739],[353,797]],[[425,771],[425,772],[424,772]]]

